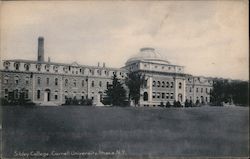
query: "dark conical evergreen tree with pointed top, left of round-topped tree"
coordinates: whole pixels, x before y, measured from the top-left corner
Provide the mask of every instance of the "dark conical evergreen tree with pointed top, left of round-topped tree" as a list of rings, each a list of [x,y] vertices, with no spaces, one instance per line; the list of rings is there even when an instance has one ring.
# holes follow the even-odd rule
[[[122,83],[118,80],[116,74],[114,74],[112,84],[108,86],[105,93],[105,101],[108,103],[114,106],[126,105],[126,90],[122,86]]]

